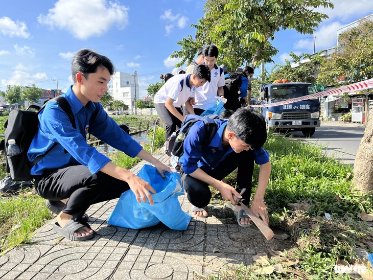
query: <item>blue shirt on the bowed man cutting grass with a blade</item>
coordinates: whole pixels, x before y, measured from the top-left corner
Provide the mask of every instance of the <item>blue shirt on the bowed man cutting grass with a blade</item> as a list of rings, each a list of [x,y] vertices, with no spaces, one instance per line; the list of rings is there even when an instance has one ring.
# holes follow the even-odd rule
[[[179,162],[186,174],[193,173],[197,168],[209,173],[229,153],[234,150],[228,145],[222,146],[223,131],[228,120],[216,120],[218,131],[208,146],[203,146],[203,139],[206,137],[206,128],[203,122],[196,122],[184,139],[184,154]],[[251,150],[254,154],[255,163],[266,164],[269,161],[269,154],[262,148]]]

